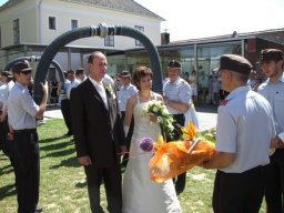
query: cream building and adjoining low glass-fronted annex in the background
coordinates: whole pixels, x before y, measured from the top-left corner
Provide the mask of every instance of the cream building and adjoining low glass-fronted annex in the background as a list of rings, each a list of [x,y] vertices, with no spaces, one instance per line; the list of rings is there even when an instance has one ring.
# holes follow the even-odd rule
[[[9,0],[0,7],[0,71],[20,57],[41,57],[45,48],[59,36],[81,27],[125,26],[135,28],[156,45],[162,73],[170,60],[182,62],[183,75],[197,72],[199,102],[206,102],[210,75],[214,75],[221,54],[234,53],[247,58],[260,73],[257,60],[265,48],[284,50],[284,29],[217,36],[170,42],[170,34],[161,34],[163,18],[133,0]],[[79,39],[61,48],[54,60],[63,70],[79,67],[88,70],[87,58],[94,50],[108,55],[108,73],[116,75],[122,70],[149,65],[150,59],[142,43],[128,37]],[[37,68],[34,62],[33,68]],[[37,69],[33,69],[36,71]],[[50,68],[50,73],[55,73]],[[54,74],[51,74],[51,78]]]

